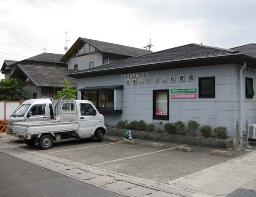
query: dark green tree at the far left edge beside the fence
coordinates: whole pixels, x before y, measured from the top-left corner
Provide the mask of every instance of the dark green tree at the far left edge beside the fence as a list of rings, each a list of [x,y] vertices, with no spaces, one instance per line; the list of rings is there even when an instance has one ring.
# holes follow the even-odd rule
[[[24,83],[20,79],[0,81],[0,101],[20,101],[24,99]]]

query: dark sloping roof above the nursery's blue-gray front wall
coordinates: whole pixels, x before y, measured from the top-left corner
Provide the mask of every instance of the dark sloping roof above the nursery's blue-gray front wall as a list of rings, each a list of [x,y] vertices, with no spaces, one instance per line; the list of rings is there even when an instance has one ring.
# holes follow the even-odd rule
[[[117,62],[112,62],[106,65],[101,65],[101,66],[89,68],[86,70],[80,70],[72,74],[69,74],[69,76],[80,78],[85,76],[85,74],[89,74],[89,73],[91,75],[92,73],[101,73],[101,72],[105,73],[106,71],[109,71],[109,70],[116,71],[116,70],[120,70],[128,67],[130,68],[140,67],[145,65],[154,65],[154,64],[161,64],[161,63],[163,64],[168,62],[193,60],[193,59],[206,58],[206,57],[219,57],[219,56],[237,54],[237,53],[238,52],[236,50],[232,50],[232,49],[210,47],[210,46],[192,43],[192,44],[187,44],[180,47],[165,49],[163,51],[154,52],[151,54],[141,55],[141,56],[125,59],[125,60],[120,60]],[[154,69],[154,68],[151,68],[151,69]]]

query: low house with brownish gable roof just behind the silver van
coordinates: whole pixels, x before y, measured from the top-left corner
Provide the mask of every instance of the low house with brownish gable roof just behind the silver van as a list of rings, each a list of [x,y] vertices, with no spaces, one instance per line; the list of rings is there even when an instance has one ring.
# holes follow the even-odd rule
[[[64,78],[67,78],[71,87],[76,88],[77,80],[66,76],[72,72],[74,70],[67,68],[17,65],[11,78],[19,78],[25,83],[25,99],[36,99],[57,95],[57,91],[64,87]]]

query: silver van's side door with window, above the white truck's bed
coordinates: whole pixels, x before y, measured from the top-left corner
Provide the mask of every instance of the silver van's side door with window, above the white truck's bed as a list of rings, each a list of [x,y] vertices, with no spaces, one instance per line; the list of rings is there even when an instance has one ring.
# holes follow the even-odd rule
[[[29,112],[32,112],[32,116],[29,115]],[[32,122],[32,121],[43,121],[48,120],[49,114],[48,110],[46,109],[46,104],[35,104],[33,105],[27,112],[25,116],[25,122]]]

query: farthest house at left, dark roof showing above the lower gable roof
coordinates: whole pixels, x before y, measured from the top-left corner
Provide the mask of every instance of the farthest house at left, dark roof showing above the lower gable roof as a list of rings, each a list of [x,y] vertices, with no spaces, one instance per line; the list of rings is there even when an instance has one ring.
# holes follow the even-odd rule
[[[63,54],[41,53],[25,60],[12,61],[12,63],[8,65],[6,65],[5,61],[10,62],[10,60],[5,60],[1,68],[1,73],[5,74],[5,79],[10,78],[18,64],[67,68],[66,63],[60,62],[61,57],[63,57]]]

